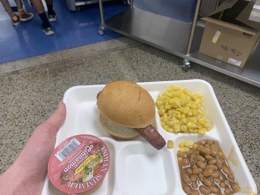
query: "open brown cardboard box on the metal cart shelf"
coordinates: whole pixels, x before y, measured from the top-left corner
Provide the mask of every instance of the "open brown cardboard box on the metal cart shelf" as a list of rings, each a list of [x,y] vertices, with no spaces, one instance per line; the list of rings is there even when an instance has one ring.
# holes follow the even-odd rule
[[[238,0],[226,0],[210,17],[202,18],[202,20],[206,21],[206,26],[199,52],[242,68],[258,45],[260,39],[260,23],[257,25],[255,23],[253,29],[252,25],[250,25],[252,21],[247,22],[244,17],[240,16],[241,14],[239,15],[240,21],[252,28],[216,19],[218,17],[220,18],[224,10],[234,6],[237,1]],[[250,4],[251,2],[248,5]],[[248,11],[249,9],[246,8],[244,10]],[[242,12],[244,12],[244,10]],[[247,14],[243,14],[247,16]]]

